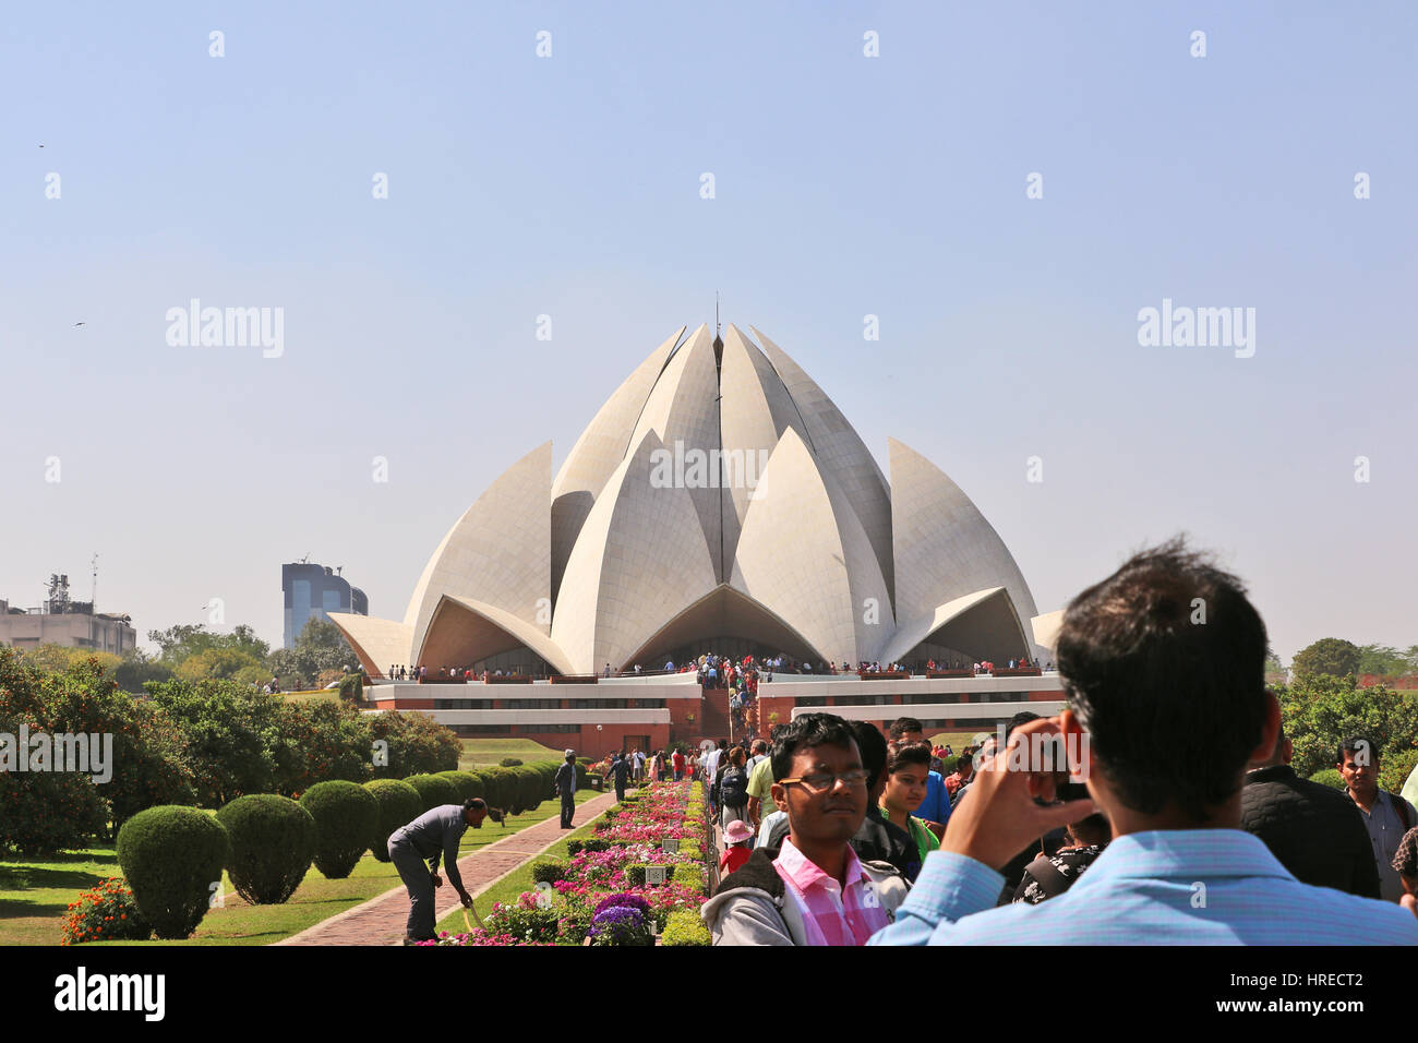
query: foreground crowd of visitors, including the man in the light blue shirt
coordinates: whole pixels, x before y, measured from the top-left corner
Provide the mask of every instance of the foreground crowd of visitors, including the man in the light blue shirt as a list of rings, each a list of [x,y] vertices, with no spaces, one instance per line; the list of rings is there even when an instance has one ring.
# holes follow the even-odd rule
[[[722,830],[713,942],[1418,944],[1418,810],[1370,736],[1334,736],[1343,792],[1296,776],[1266,649],[1173,541],[1073,599],[1068,708],[1003,748],[825,712],[719,742],[685,765]]]

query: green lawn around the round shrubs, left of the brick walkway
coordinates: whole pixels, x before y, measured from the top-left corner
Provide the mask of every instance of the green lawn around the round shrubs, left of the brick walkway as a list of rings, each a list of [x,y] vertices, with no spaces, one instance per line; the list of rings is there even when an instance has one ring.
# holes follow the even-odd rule
[[[577,803],[596,796],[586,789]],[[559,800],[543,800],[535,812],[510,816],[505,826],[485,822],[464,833],[459,854],[471,854],[495,840],[560,815]],[[564,854],[564,847],[563,847]],[[0,860],[0,947],[58,945],[60,925],[79,891],[106,877],[122,876],[112,844],[65,853],[43,861]],[[197,932],[177,942],[92,942],[96,945],[268,945],[313,927],[337,912],[401,887],[393,864],[364,854],[345,880],[326,880],[313,866],[284,905],[247,905],[223,874],[225,905],[207,912]],[[516,895],[513,895],[516,897]],[[491,907],[489,907],[491,908]]]

